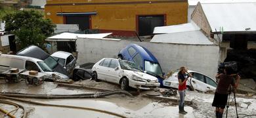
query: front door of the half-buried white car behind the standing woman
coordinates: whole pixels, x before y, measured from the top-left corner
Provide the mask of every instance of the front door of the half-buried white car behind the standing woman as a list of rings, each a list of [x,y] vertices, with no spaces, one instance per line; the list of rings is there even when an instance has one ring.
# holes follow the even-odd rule
[[[194,87],[194,89],[196,90],[200,90],[205,92],[206,91],[206,85],[205,85],[205,80],[204,80],[204,75],[202,75],[201,73],[192,73],[193,77],[191,80],[192,86]],[[190,79],[188,79],[188,81],[190,82]]]

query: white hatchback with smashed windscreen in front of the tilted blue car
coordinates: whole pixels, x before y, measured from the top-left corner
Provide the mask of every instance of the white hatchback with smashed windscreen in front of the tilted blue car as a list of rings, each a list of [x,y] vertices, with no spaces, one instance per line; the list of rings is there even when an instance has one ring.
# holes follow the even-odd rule
[[[129,87],[148,90],[160,86],[158,78],[143,73],[139,66],[127,60],[103,58],[96,62],[92,71],[93,79],[120,84],[123,90],[129,89]]]

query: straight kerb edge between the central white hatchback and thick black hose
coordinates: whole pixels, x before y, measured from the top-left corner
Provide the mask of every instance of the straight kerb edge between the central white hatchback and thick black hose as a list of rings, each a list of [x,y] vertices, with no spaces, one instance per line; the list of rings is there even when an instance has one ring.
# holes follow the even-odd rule
[[[100,90],[100,91],[111,91],[110,89],[106,88],[95,88],[95,87],[88,87],[88,86],[83,86],[83,85],[69,85],[69,84],[64,84],[64,83],[58,83],[58,87],[71,87],[71,88],[86,88],[90,90]]]

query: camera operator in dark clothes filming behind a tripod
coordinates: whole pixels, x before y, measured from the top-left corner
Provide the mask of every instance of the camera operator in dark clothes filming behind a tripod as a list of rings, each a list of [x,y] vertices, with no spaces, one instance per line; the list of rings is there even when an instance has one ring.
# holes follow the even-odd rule
[[[225,67],[224,73],[218,73],[216,75],[216,79],[219,79],[219,81],[215,90],[212,106],[216,107],[215,113],[217,118],[223,117],[223,111],[228,100],[228,94],[231,92],[231,88],[238,87],[240,76],[233,72],[231,67]],[[230,85],[232,85],[232,87]]]

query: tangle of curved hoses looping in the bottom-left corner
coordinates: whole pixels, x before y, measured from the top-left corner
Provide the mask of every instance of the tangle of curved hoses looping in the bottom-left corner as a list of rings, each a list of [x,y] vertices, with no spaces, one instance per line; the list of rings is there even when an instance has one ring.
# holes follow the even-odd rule
[[[26,118],[27,116],[27,112],[26,112],[26,109],[24,108],[24,106],[21,106],[20,104],[16,104],[14,102],[11,102],[11,101],[7,101],[7,100],[0,100],[0,103],[3,103],[3,104],[9,104],[9,105],[12,105],[12,106],[16,106],[16,109],[12,110],[12,111],[16,111],[18,110],[19,108],[22,108],[23,109],[23,115],[22,115],[22,118]],[[7,112],[5,113],[6,115],[8,115],[9,117],[14,117],[13,115],[11,115],[10,113],[12,112]]]

